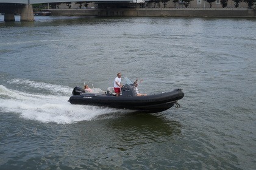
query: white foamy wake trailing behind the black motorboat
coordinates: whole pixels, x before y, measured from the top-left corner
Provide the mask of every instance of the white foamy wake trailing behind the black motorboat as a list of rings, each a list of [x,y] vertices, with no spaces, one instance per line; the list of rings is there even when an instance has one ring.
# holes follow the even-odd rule
[[[24,79],[10,80],[7,84],[12,85],[12,89],[0,85],[0,112],[19,114],[27,120],[69,124],[102,119],[104,114],[129,112],[128,110],[70,104],[68,102],[72,92],[70,87]]]

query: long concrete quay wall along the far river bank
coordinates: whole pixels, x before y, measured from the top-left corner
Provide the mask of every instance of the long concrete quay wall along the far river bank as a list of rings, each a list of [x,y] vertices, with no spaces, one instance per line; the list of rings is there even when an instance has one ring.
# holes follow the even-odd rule
[[[182,16],[256,17],[250,9],[51,9],[52,15],[69,16]]]

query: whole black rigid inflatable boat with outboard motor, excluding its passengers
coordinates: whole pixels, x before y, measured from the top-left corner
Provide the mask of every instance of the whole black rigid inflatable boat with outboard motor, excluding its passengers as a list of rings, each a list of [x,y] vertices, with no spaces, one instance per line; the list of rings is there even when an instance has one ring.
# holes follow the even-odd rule
[[[133,83],[125,77],[125,84],[121,87],[119,97],[115,96],[113,87],[107,91],[94,88],[93,92],[85,92],[80,87],[74,87],[72,96],[69,98],[71,104],[84,104],[92,106],[105,106],[118,109],[130,109],[140,112],[162,112],[174,106],[179,107],[178,100],[184,97],[182,89],[176,89],[162,94],[146,95],[138,97],[133,89]]]

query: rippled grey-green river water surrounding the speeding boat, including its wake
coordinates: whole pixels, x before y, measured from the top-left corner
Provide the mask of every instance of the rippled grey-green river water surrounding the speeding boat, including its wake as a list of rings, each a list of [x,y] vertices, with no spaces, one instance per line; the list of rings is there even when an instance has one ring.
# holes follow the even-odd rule
[[[0,169],[254,169],[256,19],[0,16]],[[68,103],[116,73],[180,108]]]

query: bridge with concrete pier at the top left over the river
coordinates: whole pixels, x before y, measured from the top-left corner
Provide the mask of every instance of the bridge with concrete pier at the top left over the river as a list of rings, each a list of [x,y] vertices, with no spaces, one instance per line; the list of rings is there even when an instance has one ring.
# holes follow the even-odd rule
[[[4,21],[15,21],[15,13],[20,13],[21,21],[34,21],[32,4],[58,2],[92,2],[92,0],[0,0],[0,13],[4,13]],[[143,0],[94,0],[96,3],[123,2],[141,3]]]

